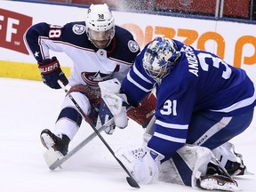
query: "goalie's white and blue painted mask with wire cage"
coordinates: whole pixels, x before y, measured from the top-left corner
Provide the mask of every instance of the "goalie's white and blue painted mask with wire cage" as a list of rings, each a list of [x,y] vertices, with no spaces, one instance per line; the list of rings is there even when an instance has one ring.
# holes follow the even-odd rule
[[[164,37],[156,37],[148,44],[143,57],[143,68],[157,84],[176,67],[180,58],[180,52],[177,50],[175,42]]]

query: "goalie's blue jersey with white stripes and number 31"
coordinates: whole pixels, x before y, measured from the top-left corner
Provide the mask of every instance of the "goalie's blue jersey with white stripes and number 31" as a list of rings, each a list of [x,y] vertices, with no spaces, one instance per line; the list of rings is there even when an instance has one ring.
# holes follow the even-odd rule
[[[161,84],[156,84],[142,66],[146,45],[121,86],[121,92],[133,105],[156,87],[155,133],[148,147],[165,157],[172,156],[186,143],[193,113],[241,115],[254,108],[256,100],[252,81],[243,69],[228,65],[210,52],[175,42],[181,57]]]

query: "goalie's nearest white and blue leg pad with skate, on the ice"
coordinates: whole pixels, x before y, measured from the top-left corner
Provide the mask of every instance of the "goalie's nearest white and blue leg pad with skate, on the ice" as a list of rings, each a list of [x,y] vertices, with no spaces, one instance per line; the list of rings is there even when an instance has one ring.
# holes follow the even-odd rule
[[[238,190],[209,148],[185,145],[160,165],[159,180],[206,190]]]

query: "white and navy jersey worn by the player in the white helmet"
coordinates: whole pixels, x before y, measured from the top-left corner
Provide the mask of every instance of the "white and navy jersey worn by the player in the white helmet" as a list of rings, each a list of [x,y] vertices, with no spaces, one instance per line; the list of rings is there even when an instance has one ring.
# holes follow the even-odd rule
[[[140,52],[133,36],[116,26],[116,33],[106,49],[95,47],[85,31],[85,22],[70,22],[63,27],[38,23],[25,35],[25,42],[37,61],[51,58],[49,51],[65,52],[73,61],[69,83],[97,86],[100,81],[124,76]]]

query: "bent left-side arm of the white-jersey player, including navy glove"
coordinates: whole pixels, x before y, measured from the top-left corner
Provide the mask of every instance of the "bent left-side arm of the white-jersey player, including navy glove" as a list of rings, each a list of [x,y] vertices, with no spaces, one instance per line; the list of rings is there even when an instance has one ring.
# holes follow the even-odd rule
[[[49,53],[50,48],[58,51],[58,48],[52,44],[52,39],[58,39],[60,35],[61,27],[38,23],[28,28],[24,36],[25,43],[37,60],[44,84],[53,89],[60,89],[58,80],[63,84],[68,84],[68,79],[60,68],[59,60],[56,57],[50,59]]]

